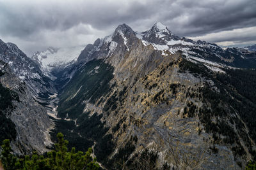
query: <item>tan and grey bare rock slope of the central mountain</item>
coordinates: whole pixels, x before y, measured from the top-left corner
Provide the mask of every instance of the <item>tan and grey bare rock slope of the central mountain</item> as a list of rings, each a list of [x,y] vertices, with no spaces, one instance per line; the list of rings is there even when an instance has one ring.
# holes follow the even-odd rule
[[[150,46],[144,48],[144,52],[150,52]],[[179,54],[162,57],[159,53],[152,55],[153,51],[151,51],[151,55],[147,56],[145,53],[143,55],[137,53],[141,52],[140,48],[130,49],[131,53],[127,59],[120,62],[120,65],[116,66],[116,72],[114,71],[117,88],[113,89],[112,95],[116,96],[115,94],[124,90],[122,87],[127,88],[125,98],[122,99],[124,101],[117,102],[116,110],[122,114],[116,115],[116,110],[111,111],[111,109],[109,116],[106,116],[110,127],[116,127],[117,124],[120,127],[113,134],[117,146],[111,157],[115,157],[115,153],[125,147],[124,143],[127,143],[131,136],[136,136],[138,141],[134,152],[140,153],[148,148],[158,153],[157,164],[160,169],[166,162],[175,167],[186,164],[186,162],[175,164],[175,157],[179,160],[189,157],[187,161],[191,164],[196,162],[195,167],[205,169],[237,167],[230,148],[225,145],[214,145],[218,148],[218,153],[212,153],[209,149],[213,147],[209,142],[212,137],[202,130],[204,126],[199,125],[199,118],[189,118],[183,114],[186,103],[193,102],[198,107],[202,106],[200,99],[186,97],[186,91],[204,86],[205,80],[189,73],[179,73],[179,68],[175,64],[170,66],[170,63],[179,60]],[[136,55],[146,56],[148,60],[136,62],[138,60]],[[150,56],[155,60],[150,59]],[[155,64],[157,59],[160,61]],[[136,66],[135,63],[138,65]],[[145,65],[147,69],[142,69]],[[134,80],[135,78],[137,81]],[[170,89],[172,85],[176,92]],[[102,113],[104,114],[104,111]],[[199,131],[202,131],[200,135],[198,135]]]

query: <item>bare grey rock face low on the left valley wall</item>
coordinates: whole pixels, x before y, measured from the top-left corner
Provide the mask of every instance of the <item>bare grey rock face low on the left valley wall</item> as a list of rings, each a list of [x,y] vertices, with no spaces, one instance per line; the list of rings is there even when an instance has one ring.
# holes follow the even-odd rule
[[[19,155],[47,151],[46,146],[51,146],[49,129],[54,124],[49,119],[43,106],[38,104],[24,81],[12,73],[5,62],[0,62],[0,69],[3,75],[0,76],[0,83],[19,96],[19,101],[13,101],[14,109],[6,113],[15,124],[17,138],[12,141],[13,151]]]

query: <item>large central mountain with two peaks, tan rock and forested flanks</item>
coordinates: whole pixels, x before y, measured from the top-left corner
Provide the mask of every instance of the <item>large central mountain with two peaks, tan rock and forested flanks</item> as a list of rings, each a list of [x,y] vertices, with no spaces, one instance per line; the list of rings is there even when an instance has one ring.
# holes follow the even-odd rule
[[[58,117],[69,123],[57,124],[72,124],[63,133],[89,139],[87,146],[95,142],[110,169],[239,169],[255,155],[254,125],[242,109],[248,96],[239,98],[224,80],[228,66],[242,67],[234,61],[255,59],[238,55],[179,38],[159,23],[141,33],[119,25],[79,55],[59,96]]]

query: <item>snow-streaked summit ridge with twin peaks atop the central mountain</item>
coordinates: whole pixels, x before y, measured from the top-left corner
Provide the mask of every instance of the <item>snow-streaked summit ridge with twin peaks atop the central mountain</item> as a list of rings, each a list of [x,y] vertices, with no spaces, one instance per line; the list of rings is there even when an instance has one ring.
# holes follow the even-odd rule
[[[210,62],[216,62],[218,65],[223,64],[230,67],[255,68],[255,52],[240,50],[238,48],[227,48],[224,50],[214,43],[207,43],[200,40],[195,42],[192,39],[179,38],[179,36],[173,34],[160,22],[157,22],[151,29],[144,32],[135,32],[126,24],[119,25],[113,34],[103,39],[97,39],[93,45],[87,45],[81,52],[81,55],[79,55],[78,62],[87,62],[88,60],[95,59],[96,55],[98,55],[98,59],[108,57],[115,50],[116,45],[120,43],[113,39],[116,34],[120,34],[122,39],[124,39],[125,45],[127,44],[127,37],[134,37],[131,35],[135,34],[138,39],[141,39],[143,45],[152,45],[155,50],[161,50],[163,55],[175,53],[180,50],[188,58],[200,62],[207,60],[208,64]],[[101,51],[101,46],[105,46],[108,50]],[[126,46],[127,50],[129,50],[128,46]]]

